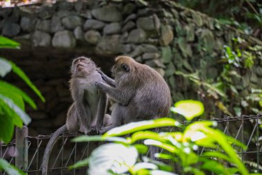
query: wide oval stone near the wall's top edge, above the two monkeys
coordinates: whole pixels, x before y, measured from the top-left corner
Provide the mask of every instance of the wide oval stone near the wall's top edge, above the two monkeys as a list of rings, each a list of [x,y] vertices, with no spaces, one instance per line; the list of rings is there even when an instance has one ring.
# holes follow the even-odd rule
[[[121,21],[122,15],[114,6],[104,6],[91,11],[94,18],[106,22],[118,22]]]

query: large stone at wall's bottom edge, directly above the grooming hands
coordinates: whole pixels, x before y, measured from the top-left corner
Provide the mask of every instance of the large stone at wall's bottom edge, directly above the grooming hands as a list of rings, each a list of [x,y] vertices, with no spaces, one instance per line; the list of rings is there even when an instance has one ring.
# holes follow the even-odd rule
[[[120,35],[102,37],[95,48],[97,55],[117,55],[120,53]]]

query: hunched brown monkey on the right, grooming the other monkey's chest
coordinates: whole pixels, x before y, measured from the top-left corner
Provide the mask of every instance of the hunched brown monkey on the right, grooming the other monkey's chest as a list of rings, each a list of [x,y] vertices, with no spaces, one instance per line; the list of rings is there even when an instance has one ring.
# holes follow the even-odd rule
[[[108,93],[117,104],[112,109],[112,125],[103,132],[120,125],[139,120],[151,120],[168,115],[171,95],[163,77],[145,64],[139,64],[131,57],[119,56],[112,67],[114,80],[104,75],[105,82],[96,86]]]

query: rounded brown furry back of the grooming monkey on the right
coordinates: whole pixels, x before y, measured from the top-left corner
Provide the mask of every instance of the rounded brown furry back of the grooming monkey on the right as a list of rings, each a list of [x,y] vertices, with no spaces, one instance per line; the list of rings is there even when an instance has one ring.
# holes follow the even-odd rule
[[[161,118],[168,115],[171,105],[171,95],[168,84],[163,77],[149,66],[138,64],[137,78],[143,78],[137,89],[137,94],[131,100],[137,107],[137,117],[145,120]]]

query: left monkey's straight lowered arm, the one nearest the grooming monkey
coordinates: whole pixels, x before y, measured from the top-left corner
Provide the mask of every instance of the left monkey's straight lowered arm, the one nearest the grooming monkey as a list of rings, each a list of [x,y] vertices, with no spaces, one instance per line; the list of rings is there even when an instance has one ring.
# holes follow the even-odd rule
[[[108,105],[108,97],[106,93],[100,91],[99,105],[97,108],[97,131],[103,127],[103,118],[105,117],[105,110]]]

